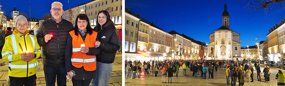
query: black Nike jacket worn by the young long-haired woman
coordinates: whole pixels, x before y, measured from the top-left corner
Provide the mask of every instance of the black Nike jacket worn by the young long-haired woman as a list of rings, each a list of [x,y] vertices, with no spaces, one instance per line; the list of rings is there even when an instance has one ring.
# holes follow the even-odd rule
[[[93,30],[98,33],[97,38],[101,42],[98,47],[101,52],[96,55],[97,62],[109,64],[114,62],[116,52],[120,48],[119,34],[112,20],[107,21],[105,26],[101,29],[97,25]]]

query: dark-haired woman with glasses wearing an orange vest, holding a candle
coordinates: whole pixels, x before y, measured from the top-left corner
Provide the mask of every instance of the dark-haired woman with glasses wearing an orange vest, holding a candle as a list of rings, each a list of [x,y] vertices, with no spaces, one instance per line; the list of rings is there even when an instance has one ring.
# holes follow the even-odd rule
[[[96,74],[96,56],[100,50],[95,47],[97,32],[93,31],[87,15],[79,14],[75,30],[69,32],[65,48],[65,67],[73,86],[89,86]],[[83,45],[84,44],[84,45]],[[75,71],[75,76],[70,71]]]

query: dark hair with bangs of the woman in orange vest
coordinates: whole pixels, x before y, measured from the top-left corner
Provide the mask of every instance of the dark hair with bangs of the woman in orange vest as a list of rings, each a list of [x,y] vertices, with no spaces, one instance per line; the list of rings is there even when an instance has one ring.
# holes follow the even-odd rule
[[[77,21],[78,21],[78,18],[80,20],[86,20],[87,22],[87,26],[86,26],[86,33],[89,33],[89,35],[91,35],[93,32],[92,32],[92,28],[91,28],[91,25],[90,25],[90,22],[89,22],[89,19],[87,17],[87,15],[85,14],[79,14],[77,17],[76,17],[76,20],[75,20],[75,26],[74,26],[74,32],[75,32],[75,35],[78,36],[78,26],[77,26]]]

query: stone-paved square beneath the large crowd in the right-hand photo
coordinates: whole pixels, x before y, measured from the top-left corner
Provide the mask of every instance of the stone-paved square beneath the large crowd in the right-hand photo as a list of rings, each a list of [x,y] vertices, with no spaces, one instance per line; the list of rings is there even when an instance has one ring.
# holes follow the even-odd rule
[[[254,62],[253,62],[254,64]],[[260,64],[260,69],[263,71],[265,65]],[[254,67],[253,67],[254,68]],[[257,73],[254,69],[253,71],[253,82],[244,83],[244,86],[276,86],[277,80],[275,79],[276,74],[278,73],[279,68],[269,67],[270,68],[270,81],[268,83],[264,82],[264,76],[261,76],[262,82],[257,81]],[[285,70],[281,69],[283,73]],[[154,73],[144,74],[144,68],[142,68],[142,73],[136,73],[135,79],[125,79],[125,86],[230,86],[226,85],[226,70],[220,69],[218,67],[217,72],[214,70],[214,78],[202,79],[201,77],[192,76],[192,71],[187,68],[187,75],[183,75],[182,67],[179,68],[179,75],[177,77],[172,77],[173,83],[162,83],[162,75],[160,70],[158,70],[158,76],[155,77]],[[200,75],[197,75],[200,76]],[[129,77],[131,78],[131,73],[129,73]],[[168,82],[168,77],[165,77],[165,82]],[[231,80],[230,80],[231,82]],[[238,86],[238,81],[236,83]]]

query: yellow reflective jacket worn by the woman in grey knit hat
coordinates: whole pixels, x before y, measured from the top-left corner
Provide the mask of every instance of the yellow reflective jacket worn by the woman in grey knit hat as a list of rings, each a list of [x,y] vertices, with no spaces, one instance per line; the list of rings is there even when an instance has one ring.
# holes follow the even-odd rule
[[[26,51],[36,56],[30,62],[22,60],[21,55]],[[9,62],[9,76],[29,77],[36,74],[38,67],[37,59],[41,56],[42,51],[36,36],[30,35],[28,31],[23,35],[15,29],[12,35],[5,38],[5,44],[1,53],[3,56],[2,59]]]

